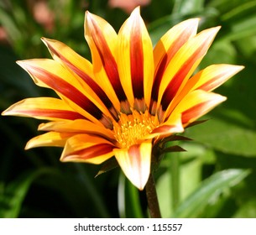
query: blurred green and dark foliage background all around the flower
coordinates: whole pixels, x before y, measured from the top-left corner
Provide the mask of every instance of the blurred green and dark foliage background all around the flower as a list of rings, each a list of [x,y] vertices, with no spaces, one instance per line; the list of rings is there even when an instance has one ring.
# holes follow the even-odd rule
[[[227,102],[186,130],[187,152],[170,153],[156,172],[163,217],[256,217],[256,1],[1,0],[0,111],[26,97],[55,96],[35,86],[16,60],[50,58],[40,37],[58,39],[90,60],[84,13],[118,31],[136,5],[155,44],[175,23],[200,17],[201,29],[222,25],[202,61],[245,69],[217,89]],[[148,217],[144,192],[119,169],[60,163],[61,149],[24,151],[39,120],[0,117],[0,217]]]

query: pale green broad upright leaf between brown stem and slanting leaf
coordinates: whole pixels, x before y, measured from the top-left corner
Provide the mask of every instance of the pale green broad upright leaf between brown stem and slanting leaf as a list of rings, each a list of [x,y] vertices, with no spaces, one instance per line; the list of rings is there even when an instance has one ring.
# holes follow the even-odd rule
[[[165,171],[159,175],[156,186],[162,217],[172,217],[176,202],[184,200],[201,181],[201,155],[205,150],[193,150],[191,147],[188,150],[167,154],[160,164],[159,171]],[[175,164],[177,157],[178,165]]]

